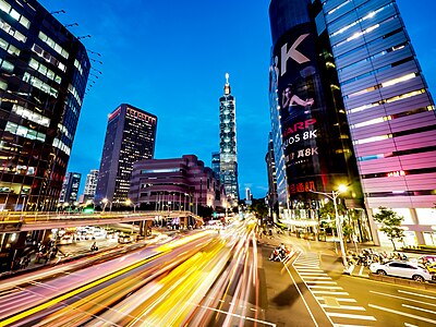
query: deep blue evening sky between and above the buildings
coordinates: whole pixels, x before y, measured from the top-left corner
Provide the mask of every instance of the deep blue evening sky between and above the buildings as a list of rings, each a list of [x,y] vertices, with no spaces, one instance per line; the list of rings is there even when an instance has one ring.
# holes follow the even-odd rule
[[[237,98],[241,197],[267,192],[270,130],[269,0],[40,1],[92,51],[102,72],[85,96],[69,171],[98,169],[107,117],[126,102],[158,117],[155,158],[198,156],[210,167],[219,150],[219,97],[230,73]],[[397,0],[431,92],[436,90],[436,1]],[[425,10],[423,10],[425,9]],[[90,82],[89,82],[90,83]],[[88,83],[88,85],[89,85]]]

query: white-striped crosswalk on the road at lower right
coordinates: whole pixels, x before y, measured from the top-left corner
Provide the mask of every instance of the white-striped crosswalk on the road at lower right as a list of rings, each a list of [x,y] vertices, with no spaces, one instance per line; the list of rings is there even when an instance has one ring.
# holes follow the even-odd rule
[[[292,266],[303,279],[320,307],[336,327],[374,326],[376,318],[365,314],[366,308],[358,305],[342,287],[320,268],[315,253],[300,253]]]

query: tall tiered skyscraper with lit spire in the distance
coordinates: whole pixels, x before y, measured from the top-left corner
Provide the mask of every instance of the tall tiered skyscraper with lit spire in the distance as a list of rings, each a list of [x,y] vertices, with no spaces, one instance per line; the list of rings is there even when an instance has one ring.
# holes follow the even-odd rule
[[[235,100],[231,95],[229,74],[225,94],[219,98],[220,180],[232,206],[239,202]]]

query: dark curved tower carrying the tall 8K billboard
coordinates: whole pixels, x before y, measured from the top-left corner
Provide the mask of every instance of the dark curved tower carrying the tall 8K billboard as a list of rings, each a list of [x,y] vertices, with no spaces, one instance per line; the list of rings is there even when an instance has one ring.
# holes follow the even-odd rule
[[[355,210],[352,228],[371,239],[347,114],[326,32],[313,16],[316,1],[272,0],[270,116],[282,222],[317,232],[325,196],[348,185],[341,201]],[[287,198],[282,201],[281,191]],[[326,221],[330,223],[330,221]]]

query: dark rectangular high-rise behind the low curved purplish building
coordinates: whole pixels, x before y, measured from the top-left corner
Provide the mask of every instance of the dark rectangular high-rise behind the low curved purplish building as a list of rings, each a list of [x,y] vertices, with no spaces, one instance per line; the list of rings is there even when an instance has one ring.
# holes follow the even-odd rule
[[[157,117],[122,104],[109,114],[95,201],[128,199],[133,162],[153,159]]]

